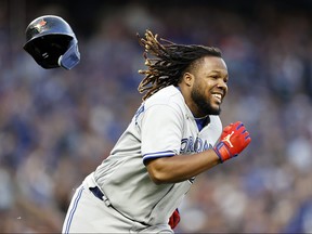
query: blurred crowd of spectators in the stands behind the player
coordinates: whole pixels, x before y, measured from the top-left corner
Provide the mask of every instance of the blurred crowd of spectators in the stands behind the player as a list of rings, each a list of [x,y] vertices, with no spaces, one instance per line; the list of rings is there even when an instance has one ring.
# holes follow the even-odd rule
[[[64,12],[48,10],[34,18]],[[81,61],[72,70],[43,69],[23,44],[8,48],[8,24],[0,24],[1,233],[61,231],[75,188],[109,154],[141,103],[144,60],[135,34],[146,28],[177,43],[222,50],[230,92],[221,119],[224,126],[242,120],[252,138],[242,155],[196,178],[176,232],[312,232],[308,11],[259,4],[244,15],[203,4],[127,4],[99,6],[94,17],[92,35],[76,35]]]

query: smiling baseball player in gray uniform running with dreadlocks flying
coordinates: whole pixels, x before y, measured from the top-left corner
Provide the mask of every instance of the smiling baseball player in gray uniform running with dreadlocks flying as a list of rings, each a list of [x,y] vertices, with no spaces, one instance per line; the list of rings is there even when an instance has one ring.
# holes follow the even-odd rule
[[[173,233],[194,179],[251,141],[240,122],[222,130],[227,68],[219,49],[139,35],[143,102],[110,155],[76,190],[63,233]],[[192,225],[192,224],[191,224]]]

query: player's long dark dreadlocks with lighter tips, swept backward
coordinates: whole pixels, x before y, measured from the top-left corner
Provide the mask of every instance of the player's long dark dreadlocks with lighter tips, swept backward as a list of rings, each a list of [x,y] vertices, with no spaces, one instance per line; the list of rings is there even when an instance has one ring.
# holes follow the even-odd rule
[[[139,70],[139,74],[145,75],[138,87],[140,93],[146,92],[142,100],[146,100],[160,89],[170,84],[178,86],[184,72],[187,70],[197,60],[204,56],[221,57],[221,51],[218,48],[205,47],[199,44],[176,44],[169,40],[153,35],[146,30],[145,38],[139,38],[139,43],[145,48],[143,56],[145,58],[146,70]],[[148,54],[153,58],[148,57]]]

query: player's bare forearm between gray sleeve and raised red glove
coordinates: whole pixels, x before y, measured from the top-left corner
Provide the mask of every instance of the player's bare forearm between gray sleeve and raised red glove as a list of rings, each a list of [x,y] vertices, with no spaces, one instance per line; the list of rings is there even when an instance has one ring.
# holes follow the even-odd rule
[[[177,183],[188,180],[218,164],[220,159],[211,148],[192,155],[176,155],[151,160],[147,162],[147,170],[156,184]]]

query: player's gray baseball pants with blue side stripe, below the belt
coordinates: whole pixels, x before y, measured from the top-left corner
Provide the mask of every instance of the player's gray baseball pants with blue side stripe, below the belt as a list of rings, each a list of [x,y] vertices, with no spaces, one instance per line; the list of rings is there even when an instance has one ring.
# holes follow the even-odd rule
[[[86,178],[70,202],[62,233],[173,233],[168,224],[147,226],[122,216],[95,197],[93,174]]]

